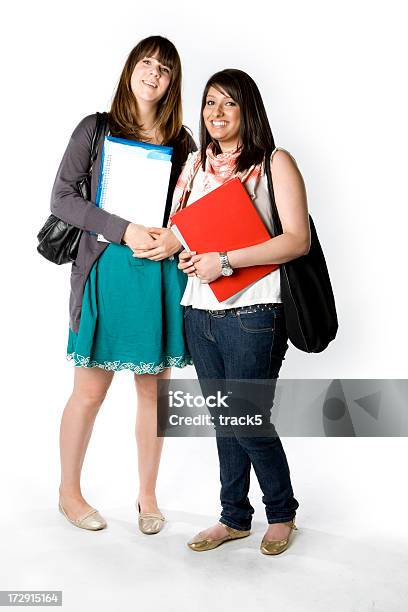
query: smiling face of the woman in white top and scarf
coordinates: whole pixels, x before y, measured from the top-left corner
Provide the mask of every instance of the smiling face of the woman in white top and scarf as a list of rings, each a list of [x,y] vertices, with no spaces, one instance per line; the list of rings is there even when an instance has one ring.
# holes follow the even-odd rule
[[[241,111],[235,100],[221,88],[209,88],[203,119],[211,138],[218,141],[221,151],[237,148],[240,144]]]

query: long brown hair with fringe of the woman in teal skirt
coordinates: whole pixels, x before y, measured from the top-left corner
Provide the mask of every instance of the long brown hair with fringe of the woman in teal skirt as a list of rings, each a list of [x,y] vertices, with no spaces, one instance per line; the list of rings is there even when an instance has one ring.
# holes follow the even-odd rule
[[[137,102],[130,79],[137,62],[154,52],[157,52],[158,61],[171,69],[169,87],[157,107],[157,127],[163,135],[164,144],[174,141],[180,134],[183,127],[180,57],[176,47],[167,38],[149,36],[132,49],[123,67],[109,113],[109,128],[113,136],[133,136],[141,140]]]

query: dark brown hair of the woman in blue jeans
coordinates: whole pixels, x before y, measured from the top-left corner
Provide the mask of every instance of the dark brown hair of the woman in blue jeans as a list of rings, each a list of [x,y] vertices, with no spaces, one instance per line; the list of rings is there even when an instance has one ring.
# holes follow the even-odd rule
[[[261,94],[255,81],[246,72],[235,68],[227,68],[213,74],[204,88],[200,117],[200,153],[203,169],[205,167],[206,150],[210,143],[213,143],[216,154],[221,153],[218,142],[211,138],[203,119],[203,110],[210,87],[215,87],[221,93],[230,96],[238,104],[241,111],[239,134],[241,153],[235,164],[236,172],[243,172],[253,164],[261,163],[265,153],[272,152],[275,148],[271,126]]]

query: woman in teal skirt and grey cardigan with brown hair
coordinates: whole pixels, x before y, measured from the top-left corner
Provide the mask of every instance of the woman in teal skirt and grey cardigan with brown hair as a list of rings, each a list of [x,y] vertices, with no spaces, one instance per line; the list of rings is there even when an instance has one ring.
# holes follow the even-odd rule
[[[170,367],[191,363],[183,332],[180,298],[186,279],[177,261],[142,261],[140,247],[154,247],[153,230],[98,208],[102,147],[92,172],[91,201],[77,191],[89,171],[96,115],[74,130],[55,180],[51,211],[83,231],[72,266],[67,357],[74,363],[74,389],[65,407],[60,434],[60,511],[83,529],[106,527],[84,499],[80,476],[98,410],[114,372],[134,373],[137,392],[136,441],[139,467],[139,527],[157,533],[164,517],[155,495],[163,438],[157,438],[156,386]],[[111,135],[173,147],[165,221],[182,165],[196,147],[182,125],[181,64],[174,45],[161,36],[142,40],[131,51],[108,113]],[[140,202],[138,206],[148,206]],[[163,202],[163,210],[165,202]],[[98,242],[103,234],[110,243]],[[178,247],[177,247],[178,248]]]

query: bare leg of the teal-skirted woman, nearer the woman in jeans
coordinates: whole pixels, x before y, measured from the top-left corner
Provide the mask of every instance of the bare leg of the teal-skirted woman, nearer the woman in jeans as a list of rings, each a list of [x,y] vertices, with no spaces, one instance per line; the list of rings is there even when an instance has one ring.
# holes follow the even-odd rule
[[[170,378],[170,368],[156,375],[135,374],[139,503],[142,512],[158,511],[156,481],[163,448],[163,438],[157,437],[157,380],[167,378]]]

